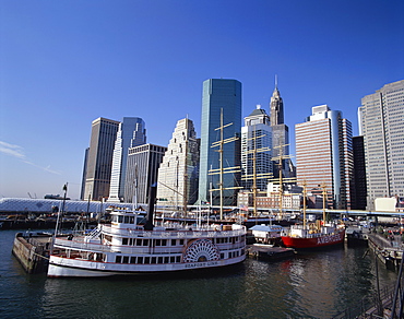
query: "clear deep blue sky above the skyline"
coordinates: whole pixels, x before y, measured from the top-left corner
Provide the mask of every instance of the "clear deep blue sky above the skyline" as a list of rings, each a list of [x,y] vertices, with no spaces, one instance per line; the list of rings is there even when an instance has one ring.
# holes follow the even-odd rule
[[[141,117],[167,145],[202,82],[242,83],[243,116],[274,78],[294,127],[328,104],[357,130],[360,98],[404,79],[404,1],[0,0],[0,197],[79,198],[98,117]]]

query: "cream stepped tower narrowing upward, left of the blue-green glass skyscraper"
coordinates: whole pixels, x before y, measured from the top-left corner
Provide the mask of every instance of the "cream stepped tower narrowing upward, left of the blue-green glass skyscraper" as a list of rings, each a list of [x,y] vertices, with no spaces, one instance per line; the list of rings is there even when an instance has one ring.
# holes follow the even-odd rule
[[[198,199],[199,140],[193,121],[177,122],[157,176],[157,204],[186,206]]]

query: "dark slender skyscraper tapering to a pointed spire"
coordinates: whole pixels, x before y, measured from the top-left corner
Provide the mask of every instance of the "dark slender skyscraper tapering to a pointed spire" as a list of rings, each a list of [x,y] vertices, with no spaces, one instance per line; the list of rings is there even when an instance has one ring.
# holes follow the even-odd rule
[[[280,158],[282,160],[282,174],[285,177],[290,176],[292,162],[289,155],[289,128],[284,122],[284,103],[281,93],[277,90],[277,81],[270,102],[270,117],[272,129],[272,169],[275,177],[280,177]]]

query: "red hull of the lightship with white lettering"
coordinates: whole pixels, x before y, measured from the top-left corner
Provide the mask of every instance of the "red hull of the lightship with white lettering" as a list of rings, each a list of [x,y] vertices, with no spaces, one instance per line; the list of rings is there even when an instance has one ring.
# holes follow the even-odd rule
[[[285,247],[296,248],[296,249],[314,249],[324,248],[328,246],[341,245],[344,243],[345,229],[332,234],[322,235],[318,237],[292,237],[282,236],[282,243]]]

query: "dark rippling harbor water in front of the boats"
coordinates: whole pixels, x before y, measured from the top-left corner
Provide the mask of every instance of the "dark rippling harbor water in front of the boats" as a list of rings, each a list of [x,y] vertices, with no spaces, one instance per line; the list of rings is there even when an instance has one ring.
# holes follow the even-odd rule
[[[28,275],[0,232],[0,318],[332,318],[357,308],[396,273],[365,247],[249,259],[217,271],[109,279]],[[378,271],[376,269],[378,265]]]

